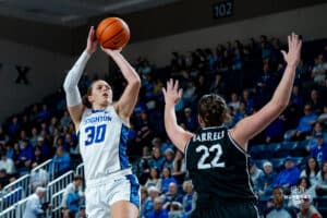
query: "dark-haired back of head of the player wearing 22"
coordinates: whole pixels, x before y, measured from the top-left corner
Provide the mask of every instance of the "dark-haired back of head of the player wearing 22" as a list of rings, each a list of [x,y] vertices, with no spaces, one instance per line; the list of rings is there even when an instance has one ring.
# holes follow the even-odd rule
[[[227,105],[220,96],[216,94],[204,95],[198,102],[198,114],[206,126],[221,125],[227,116]]]

